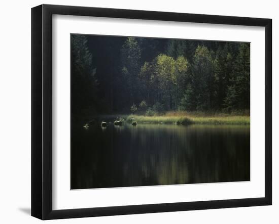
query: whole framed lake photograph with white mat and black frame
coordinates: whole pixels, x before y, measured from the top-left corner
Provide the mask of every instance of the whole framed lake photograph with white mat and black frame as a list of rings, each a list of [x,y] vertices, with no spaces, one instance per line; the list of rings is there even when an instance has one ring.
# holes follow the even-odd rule
[[[271,205],[271,19],[31,10],[31,215]]]

